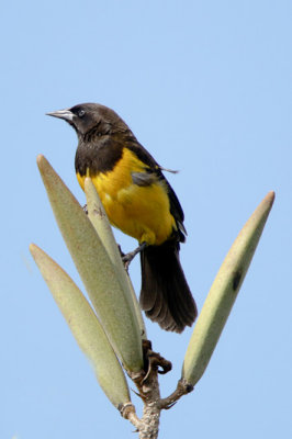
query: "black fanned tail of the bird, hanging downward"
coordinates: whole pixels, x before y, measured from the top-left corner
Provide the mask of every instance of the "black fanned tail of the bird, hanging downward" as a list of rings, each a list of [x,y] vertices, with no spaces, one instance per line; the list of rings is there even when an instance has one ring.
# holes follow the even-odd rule
[[[196,317],[196,306],[179,261],[179,243],[148,246],[141,254],[141,306],[162,329],[181,333]]]

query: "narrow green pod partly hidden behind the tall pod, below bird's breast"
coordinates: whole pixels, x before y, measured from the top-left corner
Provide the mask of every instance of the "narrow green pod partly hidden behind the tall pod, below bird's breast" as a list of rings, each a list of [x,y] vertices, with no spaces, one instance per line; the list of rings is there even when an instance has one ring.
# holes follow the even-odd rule
[[[108,219],[104,207],[100,201],[98,192],[92,183],[92,180],[89,177],[87,177],[85,181],[85,192],[87,196],[88,217],[91,221],[93,227],[96,228],[100,239],[102,240],[104,248],[106,249],[111,258],[113,266],[116,269],[117,277],[123,285],[123,289],[125,291],[131,292],[132,297],[130,299],[130,306],[133,306],[133,312],[136,313],[136,317],[141,327],[142,338],[146,339],[147,338],[146,327],[142,317],[142,312],[136,294],[134,292],[131,279],[123,267],[121,255],[117,245],[115,243],[112,227]]]

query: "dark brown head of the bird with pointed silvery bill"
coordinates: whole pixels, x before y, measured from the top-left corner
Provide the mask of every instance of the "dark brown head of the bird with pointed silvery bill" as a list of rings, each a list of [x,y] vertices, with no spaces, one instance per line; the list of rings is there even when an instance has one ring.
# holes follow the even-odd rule
[[[81,103],[47,115],[64,119],[76,130],[78,137],[83,137],[92,130],[102,135],[128,131],[127,125],[113,110],[98,103]]]

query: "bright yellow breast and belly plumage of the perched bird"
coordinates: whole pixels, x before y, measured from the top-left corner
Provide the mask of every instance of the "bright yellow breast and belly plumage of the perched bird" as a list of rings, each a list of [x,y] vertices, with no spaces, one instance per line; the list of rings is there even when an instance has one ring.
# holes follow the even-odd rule
[[[147,187],[133,183],[132,172],[145,172],[145,168],[134,153],[124,148],[113,170],[96,176],[88,170],[87,176],[91,177],[113,226],[139,243],[160,245],[177,227],[169,210],[166,183],[157,181]],[[82,189],[87,176],[77,173]]]

